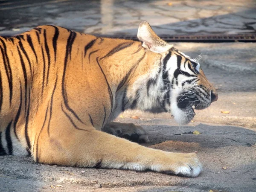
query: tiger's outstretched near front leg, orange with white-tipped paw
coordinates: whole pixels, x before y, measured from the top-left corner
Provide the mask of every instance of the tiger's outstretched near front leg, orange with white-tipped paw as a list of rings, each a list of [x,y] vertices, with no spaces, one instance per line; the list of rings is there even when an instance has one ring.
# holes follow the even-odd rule
[[[37,151],[33,153],[36,161],[61,166],[151,170],[188,177],[196,177],[202,170],[195,153],[147,148],[92,127],[56,130],[50,137],[41,134],[38,138]]]

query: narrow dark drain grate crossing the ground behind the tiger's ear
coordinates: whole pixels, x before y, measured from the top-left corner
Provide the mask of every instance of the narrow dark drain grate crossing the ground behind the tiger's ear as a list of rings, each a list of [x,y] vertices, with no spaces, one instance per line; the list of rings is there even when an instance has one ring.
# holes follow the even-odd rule
[[[111,38],[122,38],[137,40],[136,36],[115,35]],[[222,42],[256,42],[256,34],[243,35],[160,35],[165,41],[169,42],[203,42],[203,43],[222,43]]]

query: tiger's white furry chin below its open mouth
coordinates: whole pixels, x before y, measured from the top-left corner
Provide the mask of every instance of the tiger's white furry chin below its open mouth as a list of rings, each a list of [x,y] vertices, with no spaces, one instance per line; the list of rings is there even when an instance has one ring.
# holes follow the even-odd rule
[[[188,124],[195,116],[194,106],[181,109],[177,105],[173,105],[171,108],[175,121],[180,125]]]

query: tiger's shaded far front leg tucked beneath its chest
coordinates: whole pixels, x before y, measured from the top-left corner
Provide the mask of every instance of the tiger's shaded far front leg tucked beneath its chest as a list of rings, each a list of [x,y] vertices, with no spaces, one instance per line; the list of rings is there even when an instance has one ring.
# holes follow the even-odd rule
[[[149,142],[146,131],[133,123],[109,122],[102,131],[137,143]]]

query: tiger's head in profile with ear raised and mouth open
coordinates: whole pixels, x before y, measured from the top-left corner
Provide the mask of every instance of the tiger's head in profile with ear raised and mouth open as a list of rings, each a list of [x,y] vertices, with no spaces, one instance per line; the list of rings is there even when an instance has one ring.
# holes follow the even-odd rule
[[[184,125],[195,116],[194,109],[207,108],[218,99],[199,62],[159,38],[146,21],[140,24],[137,37],[145,50],[160,55],[158,69],[149,72],[144,82],[147,94],[141,109],[172,113]]]

